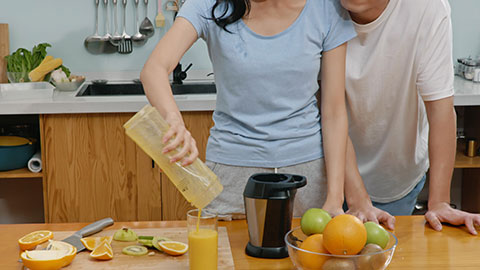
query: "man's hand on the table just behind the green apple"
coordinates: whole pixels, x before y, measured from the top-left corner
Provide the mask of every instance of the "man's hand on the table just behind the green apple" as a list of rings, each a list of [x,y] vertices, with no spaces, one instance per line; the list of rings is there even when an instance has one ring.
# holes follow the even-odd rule
[[[390,230],[395,229],[395,217],[374,207],[371,203],[365,203],[359,207],[349,206],[347,214],[358,217],[363,223],[373,221],[375,223],[384,224]]]

